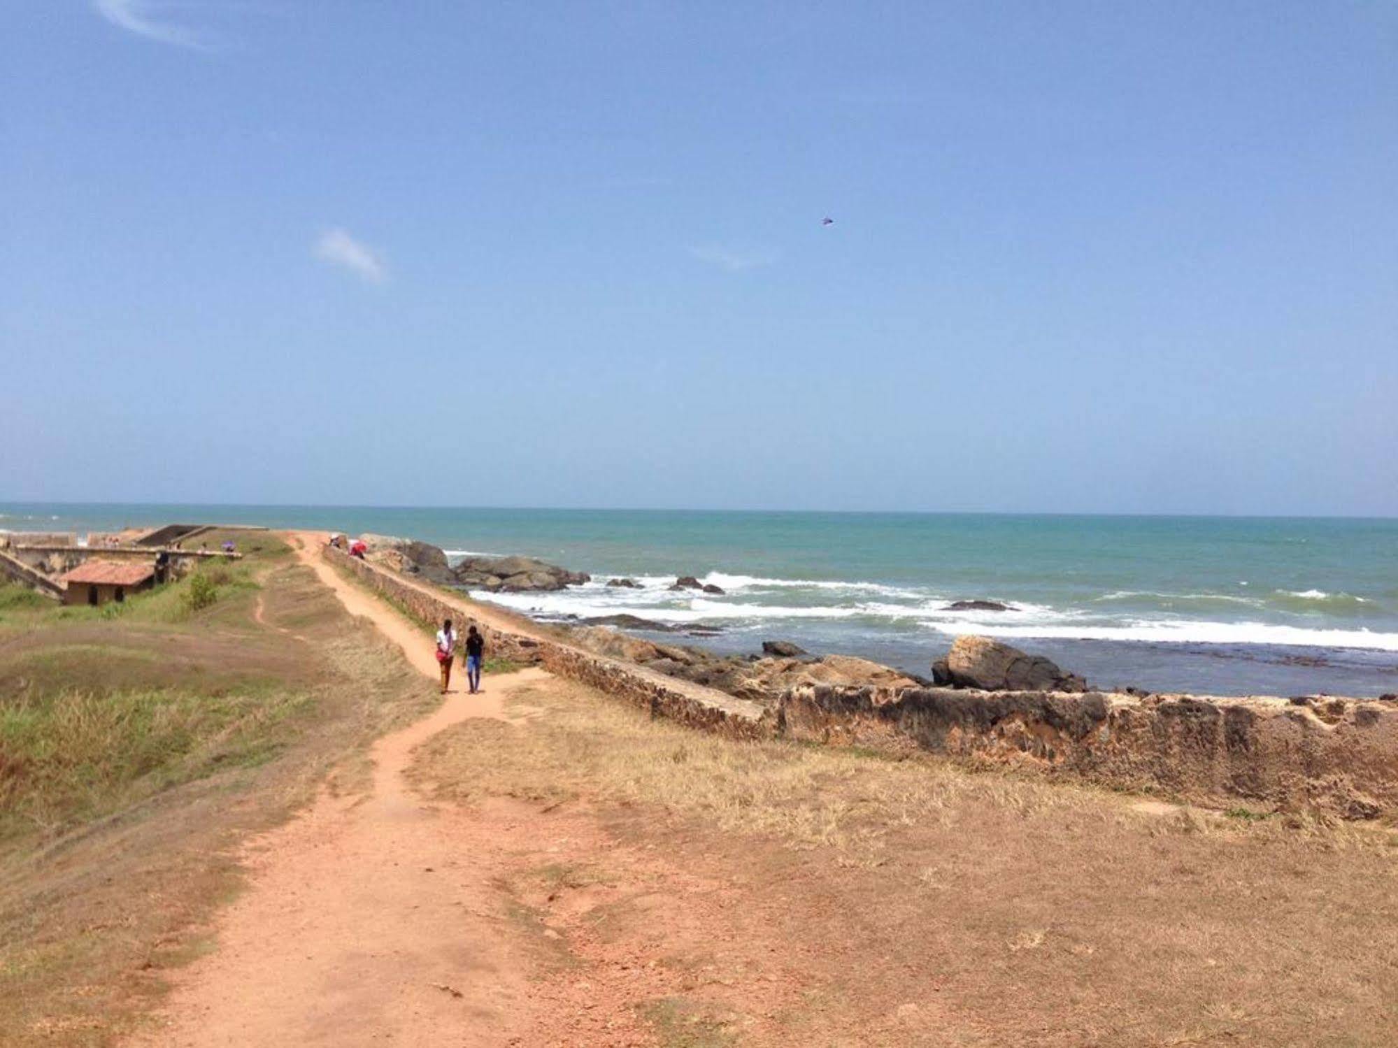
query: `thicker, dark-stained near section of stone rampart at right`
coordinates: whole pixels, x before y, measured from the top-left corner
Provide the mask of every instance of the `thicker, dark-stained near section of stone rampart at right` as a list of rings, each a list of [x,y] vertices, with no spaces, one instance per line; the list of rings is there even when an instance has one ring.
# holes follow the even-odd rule
[[[1033,767],[1202,803],[1398,813],[1398,703],[794,687],[779,728],[825,745]]]

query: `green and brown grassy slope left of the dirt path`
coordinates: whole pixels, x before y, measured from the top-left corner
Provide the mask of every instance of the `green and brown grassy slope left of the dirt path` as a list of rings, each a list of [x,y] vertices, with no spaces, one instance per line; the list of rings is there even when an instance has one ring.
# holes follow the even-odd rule
[[[232,850],[431,703],[274,537],[105,608],[0,588],[0,1031],[108,1044],[203,949]],[[249,544],[250,545],[250,544]],[[246,548],[246,546],[245,546]]]

